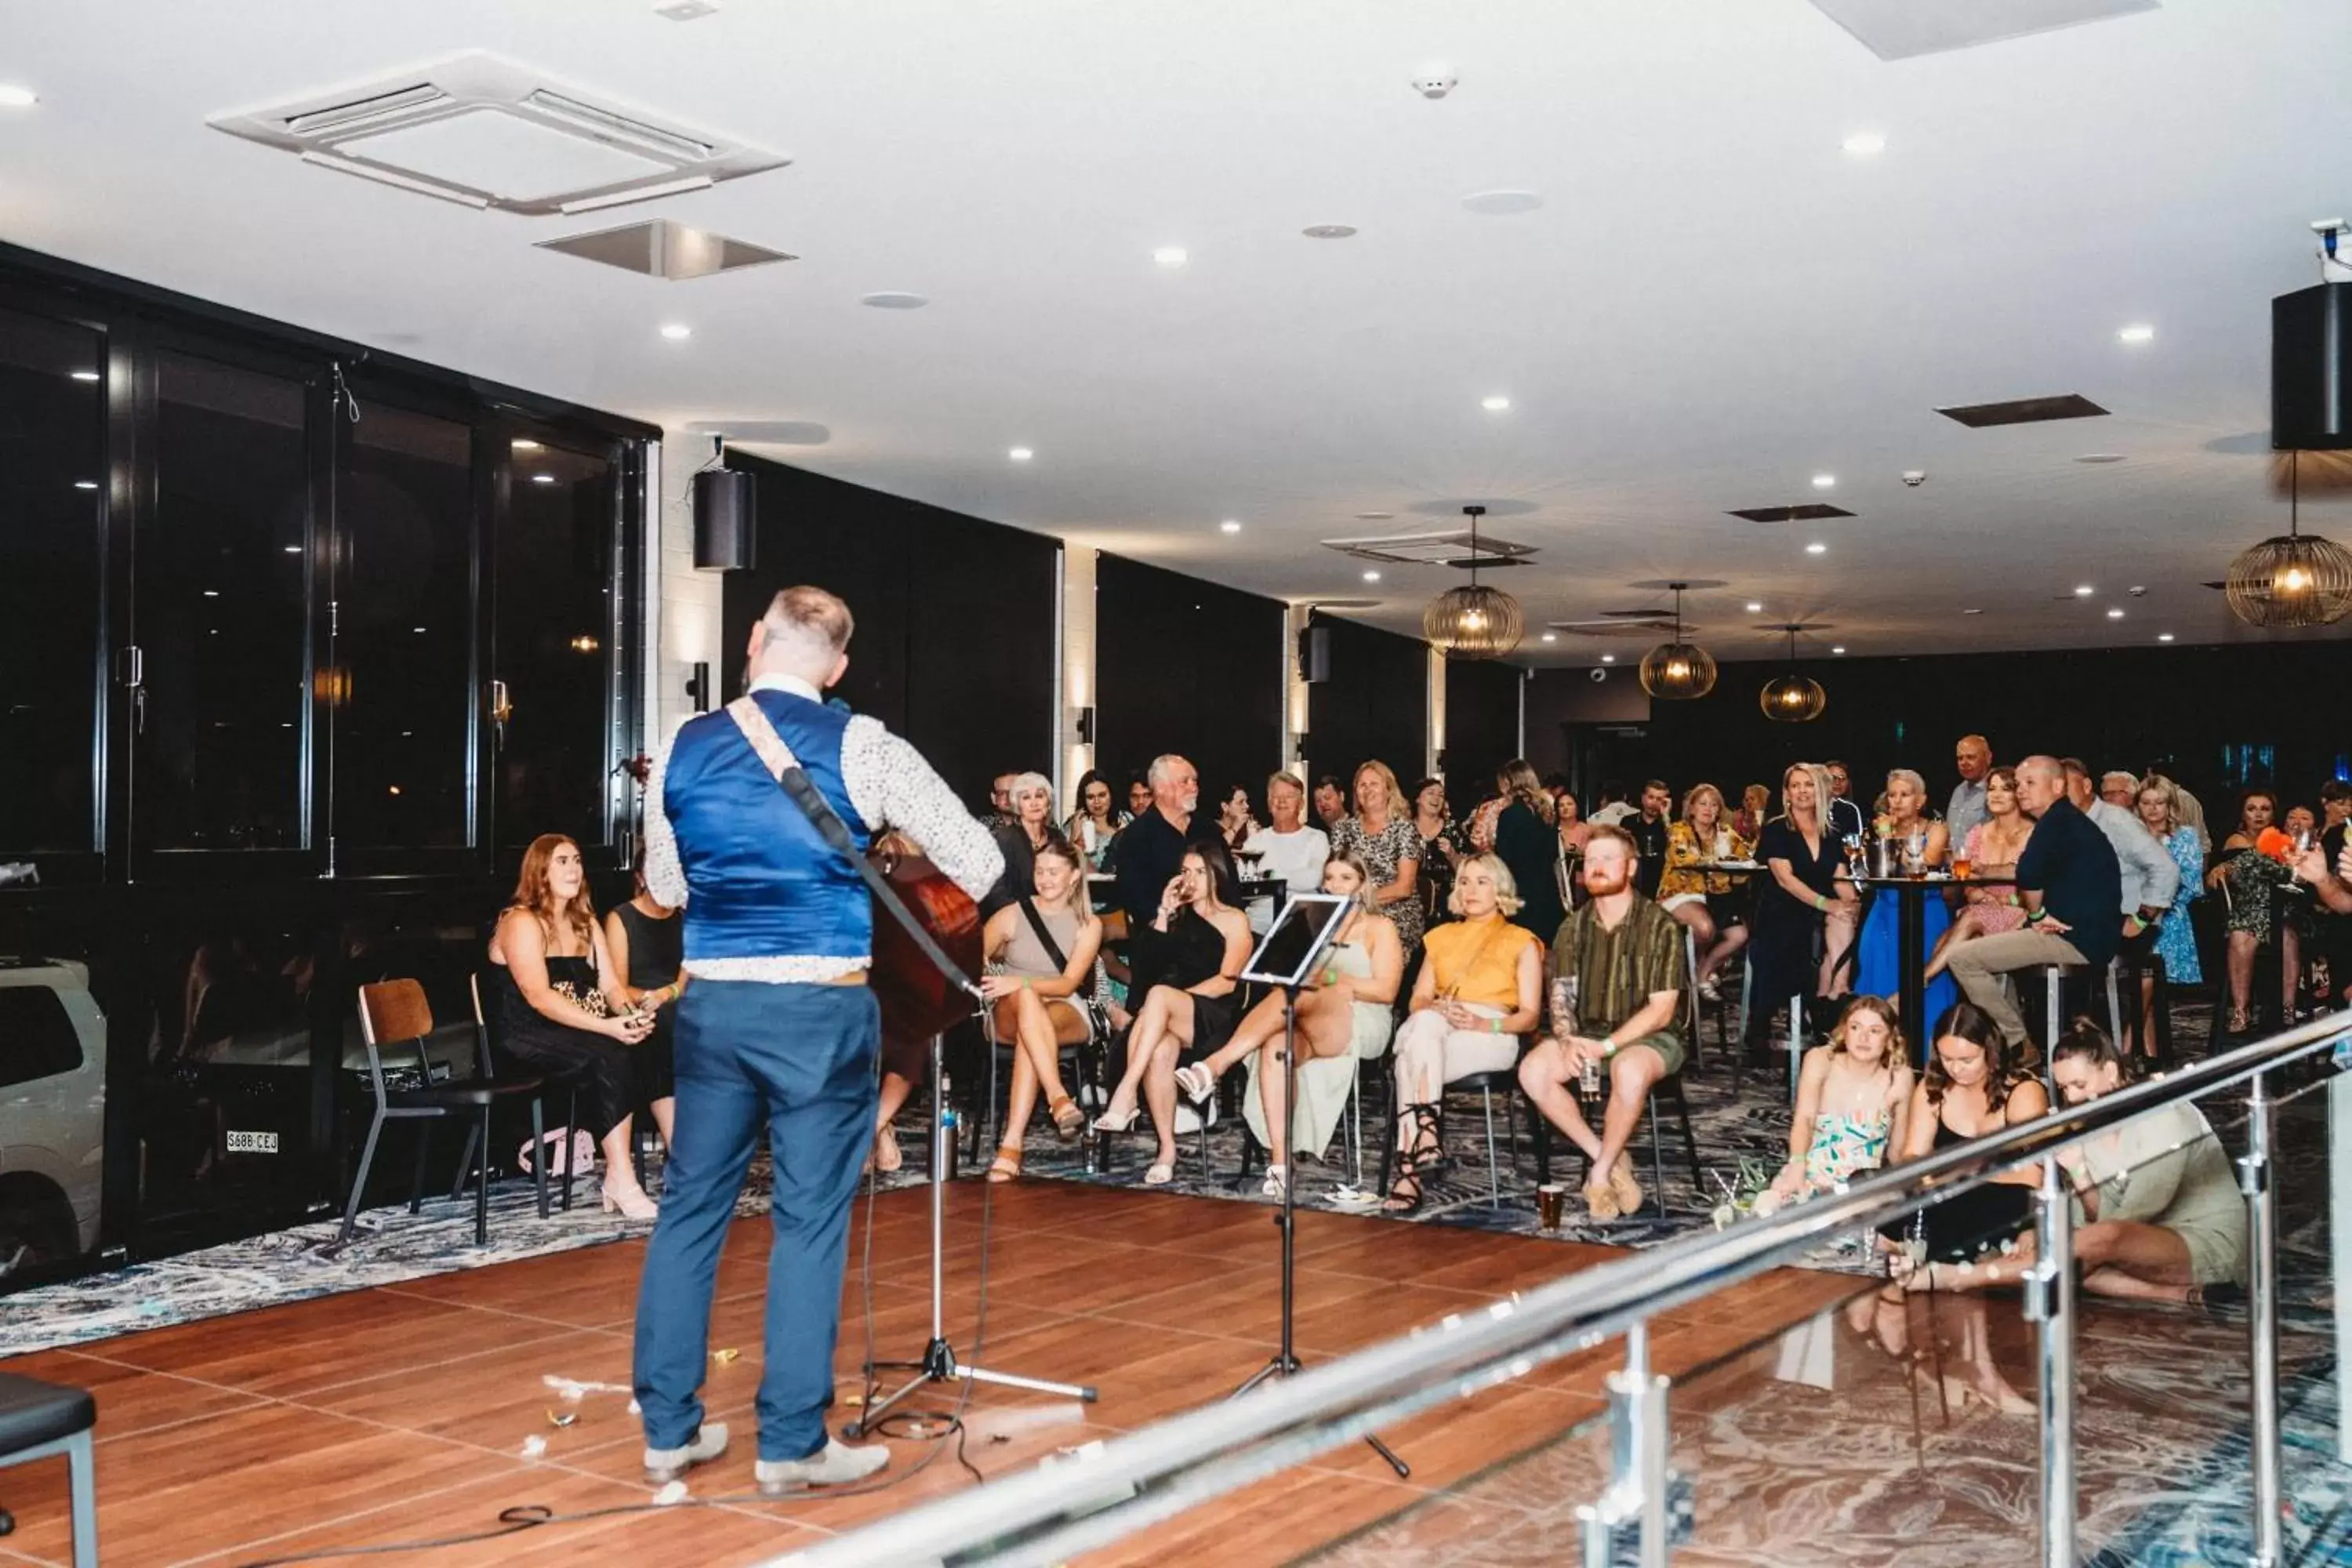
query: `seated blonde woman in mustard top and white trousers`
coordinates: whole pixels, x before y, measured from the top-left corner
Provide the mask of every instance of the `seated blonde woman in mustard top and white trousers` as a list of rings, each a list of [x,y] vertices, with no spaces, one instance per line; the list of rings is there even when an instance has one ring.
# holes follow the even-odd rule
[[[1543,943],[1510,924],[1519,889],[1496,856],[1472,856],[1454,872],[1446,907],[1458,917],[1423,943],[1411,1016],[1397,1030],[1397,1157],[1392,1213],[1421,1208],[1423,1178],[1444,1164],[1437,1119],[1444,1086],[1519,1060],[1519,1034],[1536,1027]]]

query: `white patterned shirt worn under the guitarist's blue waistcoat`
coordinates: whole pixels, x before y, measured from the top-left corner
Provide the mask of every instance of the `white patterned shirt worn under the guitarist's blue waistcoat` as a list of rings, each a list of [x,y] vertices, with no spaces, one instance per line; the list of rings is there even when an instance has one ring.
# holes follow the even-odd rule
[[[823,701],[804,679],[790,675],[762,675],[753,691],[790,691],[793,696]],[[677,835],[670,813],[661,804],[663,776],[670,769],[670,741],[661,743],[654,771],[644,783],[644,889],[682,910],[691,889],[687,872],[677,863]],[[1004,875],[1004,851],[955,797],[955,790],[922,759],[908,741],[882,729],[880,719],[856,715],[842,731],[842,788],[849,804],[868,827],[896,827],[922,844],[931,865],[943,870],[955,886],[981,898]],[[877,917],[887,919],[887,917]],[[873,957],[844,959],[804,952],[779,952],[743,959],[687,959],[687,973],[699,980],[764,980],[771,985],[807,985],[840,980],[847,973],[868,969]]]

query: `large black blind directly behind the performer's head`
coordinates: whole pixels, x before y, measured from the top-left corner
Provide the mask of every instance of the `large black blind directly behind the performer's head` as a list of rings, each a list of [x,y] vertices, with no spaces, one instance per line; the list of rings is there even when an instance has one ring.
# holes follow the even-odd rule
[[[969,804],[997,773],[1054,773],[1058,541],[736,451],[727,465],[760,482],[760,564],[724,588],[727,696],[776,590],[814,583],[856,616],[835,693],[913,741]]]

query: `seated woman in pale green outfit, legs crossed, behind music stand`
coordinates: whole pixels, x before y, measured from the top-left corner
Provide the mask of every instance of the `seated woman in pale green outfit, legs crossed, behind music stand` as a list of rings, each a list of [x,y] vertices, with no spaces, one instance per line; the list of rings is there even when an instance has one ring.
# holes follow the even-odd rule
[[[1397,983],[1404,978],[1404,943],[1385,914],[1374,912],[1367,893],[1371,870],[1357,856],[1334,856],[1324,863],[1324,893],[1355,900],[1355,912],[1341,926],[1324,957],[1317,983],[1298,994],[1298,1114],[1284,1121],[1282,1100],[1289,1074],[1282,1063],[1284,1006],[1272,994],[1249,1011],[1221,1051],[1211,1051],[1176,1072],[1176,1086],[1195,1103],[1216,1093],[1216,1079],[1240,1060],[1258,1081],[1249,1105],[1249,1131],[1268,1150],[1261,1192],[1282,1197],[1289,1180],[1291,1133],[1310,1150],[1331,1143],[1331,1128],[1348,1105],[1355,1077],[1308,1074],[1308,1065],[1329,1058],[1371,1058],[1388,1051],[1395,1027]],[[1261,1110],[1263,1107],[1263,1110]]]

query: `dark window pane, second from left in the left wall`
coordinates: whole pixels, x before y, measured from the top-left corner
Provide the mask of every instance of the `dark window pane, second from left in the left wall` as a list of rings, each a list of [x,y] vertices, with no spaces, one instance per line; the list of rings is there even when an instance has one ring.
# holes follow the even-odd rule
[[[299,381],[165,353],[139,543],[153,849],[303,844],[310,475]]]

